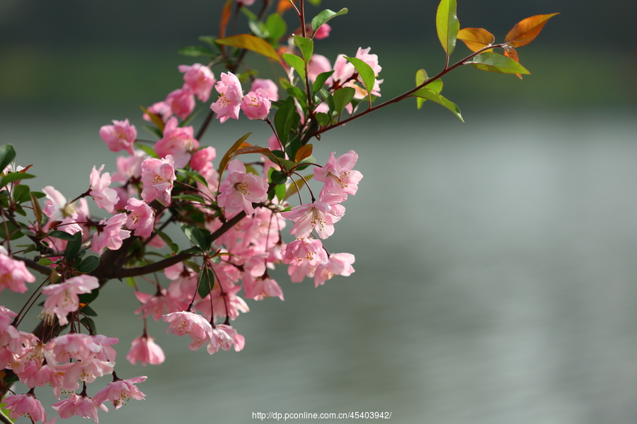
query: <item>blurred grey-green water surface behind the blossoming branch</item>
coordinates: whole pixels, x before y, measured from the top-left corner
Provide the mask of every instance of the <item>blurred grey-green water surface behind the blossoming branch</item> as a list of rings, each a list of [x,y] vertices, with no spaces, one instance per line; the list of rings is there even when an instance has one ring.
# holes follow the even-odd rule
[[[241,353],[191,352],[151,322],[166,363],[132,367],[137,301],[108,283],[94,309],[99,331],[120,338],[117,374],[149,379],[139,386],[146,401],[101,413],[101,423],[247,423],[257,411],[637,422],[633,112],[466,116],[367,118],[315,143],[319,162],[331,151],[360,155],[360,190],[326,241],[355,254],[356,272],[319,288],[279,273],[285,301],[248,301],[251,312],[234,322],[246,336]],[[4,114],[2,143],[34,164],[31,187],[73,198],[93,165],[115,170],[98,138],[108,119]],[[244,124],[215,125],[202,143],[220,156]],[[267,132],[253,126],[259,143]]]

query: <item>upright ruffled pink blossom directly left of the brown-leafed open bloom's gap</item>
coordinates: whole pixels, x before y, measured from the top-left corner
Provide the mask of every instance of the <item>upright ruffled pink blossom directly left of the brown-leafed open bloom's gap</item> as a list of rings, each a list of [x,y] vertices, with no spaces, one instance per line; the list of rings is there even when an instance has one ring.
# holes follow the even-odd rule
[[[171,204],[171,191],[173,181],[177,179],[175,175],[175,161],[172,155],[166,158],[149,158],[142,162],[142,199],[150,203],[157,199],[161,204]]]

